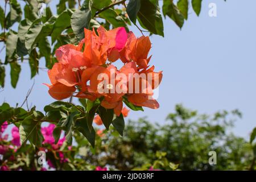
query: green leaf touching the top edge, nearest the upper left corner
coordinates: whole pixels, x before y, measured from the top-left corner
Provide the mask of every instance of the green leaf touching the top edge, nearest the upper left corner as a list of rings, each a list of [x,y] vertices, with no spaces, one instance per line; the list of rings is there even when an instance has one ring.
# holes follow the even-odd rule
[[[10,12],[7,14],[6,27],[10,28],[15,22],[19,22],[22,18],[22,10],[17,0],[10,1]]]

